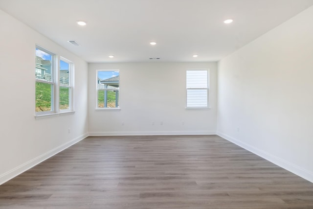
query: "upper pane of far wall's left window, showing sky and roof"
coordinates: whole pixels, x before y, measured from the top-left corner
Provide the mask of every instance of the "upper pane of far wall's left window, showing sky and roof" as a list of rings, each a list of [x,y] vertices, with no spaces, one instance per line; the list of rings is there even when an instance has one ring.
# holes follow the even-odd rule
[[[118,89],[119,71],[98,71],[98,89]]]

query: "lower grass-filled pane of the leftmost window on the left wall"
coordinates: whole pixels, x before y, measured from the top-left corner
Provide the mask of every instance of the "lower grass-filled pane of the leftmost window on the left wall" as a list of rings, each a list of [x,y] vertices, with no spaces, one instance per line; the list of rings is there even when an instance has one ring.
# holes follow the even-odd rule
[[[36,112],[52,111],[53,85],[36,82]]]

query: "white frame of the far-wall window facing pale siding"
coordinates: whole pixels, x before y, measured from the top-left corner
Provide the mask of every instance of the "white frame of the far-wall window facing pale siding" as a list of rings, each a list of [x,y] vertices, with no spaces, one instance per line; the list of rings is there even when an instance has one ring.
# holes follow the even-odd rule
[[[206,87],[188,87],[188,71],[193,71],[193,70],[198,70],[198,71],[206,71],[207,73],[207,79],[206,79]],[[209,109],[209,86],[210,86],[210,70],[209,69],[187,69],[186,70],[186,109]],[[191,106],[188,105],[188,90],[205,90],[206,91],[206,106]]]

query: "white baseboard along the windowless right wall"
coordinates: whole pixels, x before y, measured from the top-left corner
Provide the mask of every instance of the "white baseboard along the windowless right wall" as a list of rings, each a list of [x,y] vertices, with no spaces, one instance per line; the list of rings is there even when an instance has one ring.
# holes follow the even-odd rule
[[[251,146],[245,142],[242,142],[241,140],[235,139],[226,134],[217,132],[217,135],[313,183],[313,173],[308,171],[307,169],[301,168],[293,163],[285,161],[284,159],[281,159],[268,152],[260,150],[254,146]]]

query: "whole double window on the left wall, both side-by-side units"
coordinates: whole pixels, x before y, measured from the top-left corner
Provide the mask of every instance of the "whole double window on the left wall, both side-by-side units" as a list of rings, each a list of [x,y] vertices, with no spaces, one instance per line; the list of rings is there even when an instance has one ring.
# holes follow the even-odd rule
[[[36,116],[71,111],[73,63],[40,46],[35,60]]]

